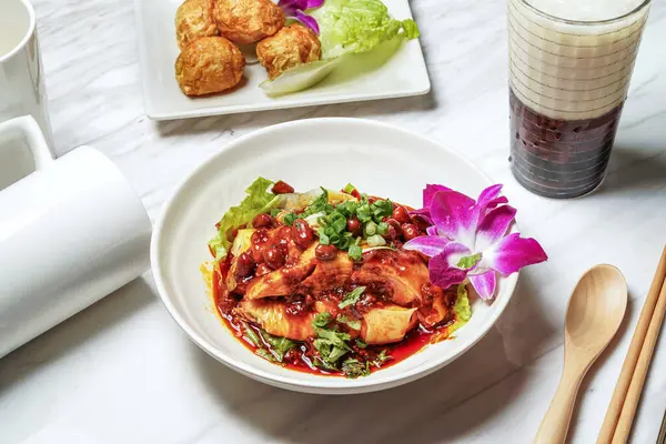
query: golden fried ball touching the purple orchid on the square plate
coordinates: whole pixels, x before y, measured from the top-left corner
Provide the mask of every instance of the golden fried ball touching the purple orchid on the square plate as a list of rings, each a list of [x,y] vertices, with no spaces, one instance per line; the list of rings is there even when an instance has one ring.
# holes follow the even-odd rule
[[[255,43],[284,26],[284,12],[271,0],[214,0],[213,19],[220,33],[238,44]]]

